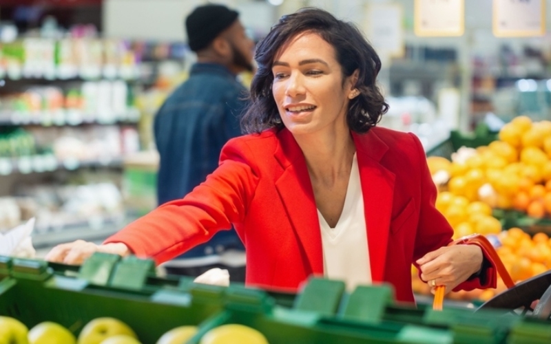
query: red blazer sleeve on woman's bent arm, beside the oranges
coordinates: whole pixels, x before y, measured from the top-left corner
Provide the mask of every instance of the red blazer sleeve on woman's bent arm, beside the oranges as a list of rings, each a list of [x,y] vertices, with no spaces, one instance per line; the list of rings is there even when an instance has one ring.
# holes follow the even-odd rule
[[[413,133],[410,133],[410,135],[413,136],[419,153],[421,179],[419,226],[417,228],[413,256],[413,264],[419,268],[415,263],[417,259],[423,257],[428,252],[450,244],[453,236],[453,228],[446,220],[446,217],[444,217],[435,207],[437,189],[430,176],[430,171],[428,171],[424,149],[419,138]],[[459,286],[454,289],[455,291],[496,287],[497,270],[495,268],[495,263],[485,248],[481,247],[481,250],[484,254],[484,263],[481,272],[459,284]],[[421,272],[419,272],[419,277],[420,273]]]

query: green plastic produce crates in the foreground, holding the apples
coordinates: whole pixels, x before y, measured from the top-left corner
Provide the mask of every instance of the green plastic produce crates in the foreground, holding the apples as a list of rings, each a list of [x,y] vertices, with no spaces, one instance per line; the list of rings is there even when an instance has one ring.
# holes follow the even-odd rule
[[[310,279],[298,294],[156,277],[152,261],[96,253],[83,266],[0,257],[0,314],[28,327],[54,321],[78,335],[92,319],[127,323],[142,343],[168,330],[198,325],[188,343],[229,323],[259,330],[269,343],[537,343],[548,322],[490,311],[436,312],[395,303],[390,286]],[[532,330],[528,330],[528,328]]]

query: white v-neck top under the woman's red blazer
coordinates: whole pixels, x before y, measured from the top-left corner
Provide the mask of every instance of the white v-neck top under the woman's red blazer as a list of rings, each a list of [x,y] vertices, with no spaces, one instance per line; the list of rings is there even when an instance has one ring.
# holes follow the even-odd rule
[[[329,227],[319,210],[318,219],[322,230],[324,276],[344,281],[349,291],[357,285],[371,284],[364,198],[355,154],[337,225]]]

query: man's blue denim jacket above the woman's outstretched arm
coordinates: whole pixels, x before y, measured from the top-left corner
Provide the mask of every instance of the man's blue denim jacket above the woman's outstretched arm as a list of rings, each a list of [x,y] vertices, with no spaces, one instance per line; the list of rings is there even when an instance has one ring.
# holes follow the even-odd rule
[[[225,67],[197,63],[155,118],[160,154],[158,204],[189,193],[218,166],[222,146],[240,135],[245,87]]]

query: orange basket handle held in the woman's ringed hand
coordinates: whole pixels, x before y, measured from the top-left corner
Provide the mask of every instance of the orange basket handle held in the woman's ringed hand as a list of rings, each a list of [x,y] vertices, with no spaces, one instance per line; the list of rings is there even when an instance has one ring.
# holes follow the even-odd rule
[[[492,259],[492,261],[494,261],[495,267],[497,268],[497,273],[503,280],[503,283],[505,283],[507,288],[514,287],[514,282],[512,281],[512,278],[509,275],[509,272],[503,265],[503,262],[501,261],[501,259],[499,259],[499,255],[497,255],[497,252],[494,246],[492,246],[490,241],[488,241],[488,239],[486,239],[484,235],[480,235],[480,234],[468,235],[466,237],[462,237],[460,239],[450,242],[448,246],[458,245],[458,244],[476,244],[485,248],[486,252],[488,252],[488,255],[490,255],[490,258]],[[435,287],[435,301],[433,303],[433,310],[442,310],[445,294],[446,294],[446,286]]]

